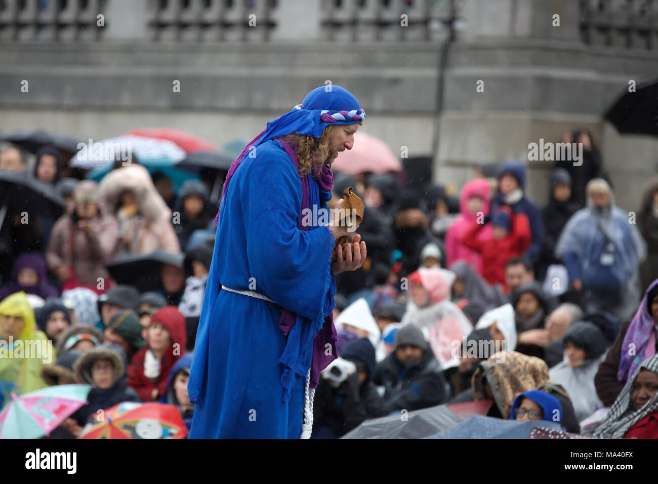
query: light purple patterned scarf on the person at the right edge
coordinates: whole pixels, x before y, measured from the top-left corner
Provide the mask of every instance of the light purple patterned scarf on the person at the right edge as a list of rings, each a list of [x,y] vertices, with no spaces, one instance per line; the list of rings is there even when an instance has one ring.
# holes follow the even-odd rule
[[[633,375],[635,370],[644,362],[649,356],[655,354],[655,323],[653,317],[649,313],[651,301],[649,301],[649,292],[658,285],[658,279],[651,282],[644,298],[640,303],[640,307],[635,313],[633,320],[628,325],[626,335],[624,335],[624,342],[621,346],[621,358],[619,360],[619,369],[617,371],[617,380],[625,382],[628,377]],[[630,346],[633,344],[634,346]],[[635,348],[634,354],[628,354],[630,348]]]

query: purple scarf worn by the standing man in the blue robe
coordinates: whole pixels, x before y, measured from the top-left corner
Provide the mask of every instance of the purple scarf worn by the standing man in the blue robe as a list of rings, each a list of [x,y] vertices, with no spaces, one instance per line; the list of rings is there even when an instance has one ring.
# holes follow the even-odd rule
[[[283,142],[282,140],[277,140],[282,148],[288,153],[292,161],[299,171],[299,163],[297,161],[297,154],[290,145]],[[311,194],[309,190],[309,176],[304,175],[300,176],[301,178],[301,210],[305,208],[311,208]],[[315,176],[315,180],[318,183],[318,188],[320,189],[320,202],[324,203],[331,198],[331,190],[334,186],[334,174],[332,173],[330,167],[326,164],[322,164],[322,171],[318,176]],[[297,223],[297,228],[299,230],[309,230],[309,227],[302,224],[301,213],[299,215],[299,222]],[[285,309],[281,313],[281,318],[279,319],[279,327],[283,331],[284,335],[288,336],[290,330],[295,325],[297,320],[297,315],[292,311]],[[309,386],[315,389],[318,386],[318,379],[320,377],[320,371],[325,369],[329,363],[336,360],[338,355],[336,354],[336,341],[338,336],[336,335],[336,327],[334,326],[334,313],[330,312],[324,318],[324,324],[322,329],[315,336],[313,341],[313,357],[311,359],[311,383]],[[326,344],[330,344],[332,347],[332,352],[330,355],[325,354]]]

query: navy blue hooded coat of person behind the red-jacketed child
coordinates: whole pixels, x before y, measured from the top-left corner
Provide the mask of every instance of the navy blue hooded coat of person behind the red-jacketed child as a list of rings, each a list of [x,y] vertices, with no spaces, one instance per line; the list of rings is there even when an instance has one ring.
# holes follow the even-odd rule
[[[500,181],[505,174],[512,175],[517,179],[517,183],[519,184],[520,190],[523,192],[523,196],[517,202],[507,203],[505,202],[505,196],[501,194],[501,192],[498,192],[493,196],[489,210],[490,213],[495,213],[501,205],[508,205],[514,213],[524,213],[526,217],[528,217],[532,239],[530,241],[530,246],[527,250],[524,250],[524,255],[531,261],[534,261],[542,252],[542,243],[544,242],[544,223],[542,223],[542,213],[539,207],[525,194],[526,165],[517,161],[507,161],[503,163],[498,170],[498,180]]]

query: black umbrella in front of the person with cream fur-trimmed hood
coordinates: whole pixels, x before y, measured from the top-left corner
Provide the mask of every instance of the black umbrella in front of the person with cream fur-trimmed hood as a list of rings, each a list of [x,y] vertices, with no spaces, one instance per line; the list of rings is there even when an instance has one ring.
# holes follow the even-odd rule
[[[149,254],[120,255],[105,265],[117,284],[130,284],[139,292],[155,290],[161,286],[160,269],[163,264],[183,267],[185,254],[170,254],[156,250]]]

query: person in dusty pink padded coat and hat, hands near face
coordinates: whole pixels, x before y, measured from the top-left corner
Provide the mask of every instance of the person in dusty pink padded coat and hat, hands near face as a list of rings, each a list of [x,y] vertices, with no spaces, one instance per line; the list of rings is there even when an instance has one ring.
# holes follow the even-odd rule
[[[116,255],[118,225],[101,210],[93,180],[79,182],[73,196],[72,213],[62,215],[53,227],[46,260],[64,290],[83,286],[101,294],[111,285],[105,264]]]

